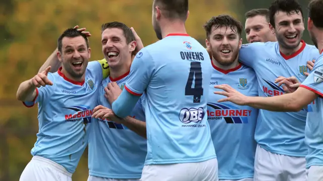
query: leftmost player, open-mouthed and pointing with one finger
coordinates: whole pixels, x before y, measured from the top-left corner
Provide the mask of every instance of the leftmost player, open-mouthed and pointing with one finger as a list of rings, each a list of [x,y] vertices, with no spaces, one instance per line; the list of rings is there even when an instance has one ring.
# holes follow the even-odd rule
[[[99,62],[88,63],[90,48],[85,34],[67,29],[58,39],[62,67],[50,66],[20,84],[17,99],[28,107],[38,102],[39,132],[32,160],[20,181],[72,180],[90,134],[92,109],[102,81]]]

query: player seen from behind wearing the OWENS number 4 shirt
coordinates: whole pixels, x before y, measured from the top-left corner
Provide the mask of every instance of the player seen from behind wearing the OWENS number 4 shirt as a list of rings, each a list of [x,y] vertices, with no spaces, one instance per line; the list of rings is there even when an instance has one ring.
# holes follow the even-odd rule
[[[205,48],[186,33],[188,0],[154,0],[152,9],[160,40],[137,53],[110,113],[129,115],[145,92],[148,150],[140,180],[218,180],[204,116],[211,64]]]

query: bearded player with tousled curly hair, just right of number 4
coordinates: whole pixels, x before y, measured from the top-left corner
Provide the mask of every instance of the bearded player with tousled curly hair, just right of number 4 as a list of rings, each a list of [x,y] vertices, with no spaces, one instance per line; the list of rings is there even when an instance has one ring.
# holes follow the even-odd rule
[[[238,62],[242,24],[229,15],[212,17],[205,25],[206,46],[214,68],[208,94],[207,118],[217,151],[220,180],[252,181],[254,141],[258,109],[236,104],[219,104],[222,95],[213,94],[214,85],[229,84],[248,96],[258,95],[254,71]]]

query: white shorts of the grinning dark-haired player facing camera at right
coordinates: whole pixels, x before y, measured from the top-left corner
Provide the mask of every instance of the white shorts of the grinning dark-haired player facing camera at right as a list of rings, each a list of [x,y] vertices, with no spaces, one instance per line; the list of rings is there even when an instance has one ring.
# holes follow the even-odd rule
[[[307,170],[305,157],[275,154],[257,145],[254,159],[254,181],[306,180]]]

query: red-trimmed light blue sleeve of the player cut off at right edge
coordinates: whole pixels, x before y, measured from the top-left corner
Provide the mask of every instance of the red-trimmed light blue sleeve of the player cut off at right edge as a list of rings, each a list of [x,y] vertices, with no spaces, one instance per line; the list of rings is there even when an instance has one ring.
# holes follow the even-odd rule
[[[320,97],[323,97],[323,56],[320,56],[314,64],[314,68],[300,85],[305,89],[308,89]]]

